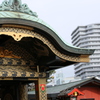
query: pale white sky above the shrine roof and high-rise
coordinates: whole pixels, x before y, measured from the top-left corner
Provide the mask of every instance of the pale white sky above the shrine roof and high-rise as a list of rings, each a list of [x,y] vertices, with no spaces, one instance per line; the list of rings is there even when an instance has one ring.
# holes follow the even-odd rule
[[[0,3],[3,0],[0,0]],[[100,23],[100,0],[22,0],[51,25],[67,43],[77,26]],[[73,66],[62,69],[66,77],[73,76]]]

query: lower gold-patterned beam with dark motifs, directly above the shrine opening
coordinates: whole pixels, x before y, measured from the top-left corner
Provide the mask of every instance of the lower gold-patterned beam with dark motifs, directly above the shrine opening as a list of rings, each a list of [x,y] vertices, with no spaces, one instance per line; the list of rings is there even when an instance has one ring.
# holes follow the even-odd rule
[[[0,66],[0,77],[46,77],[46,73],[39,73],[23,66]]]

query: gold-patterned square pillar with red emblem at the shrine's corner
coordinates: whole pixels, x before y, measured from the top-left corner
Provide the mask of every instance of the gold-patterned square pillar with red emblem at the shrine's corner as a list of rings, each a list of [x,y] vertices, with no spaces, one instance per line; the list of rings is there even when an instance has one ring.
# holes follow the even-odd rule
[[[47,100],[46,78],[39,78],[35,83],[36,100]]]

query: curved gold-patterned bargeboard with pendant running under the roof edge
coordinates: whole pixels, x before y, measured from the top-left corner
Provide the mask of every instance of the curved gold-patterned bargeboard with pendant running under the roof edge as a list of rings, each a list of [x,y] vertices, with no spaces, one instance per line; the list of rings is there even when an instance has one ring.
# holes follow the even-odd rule
[[[2,27],[0,28],[0,34],[12,36],[16,41],[20,41],[23,37],[32,37],[32,38],[35,37],[41,40],[44,44],[46,44],[55,55],[64,60],[74,61],[74,62],[89,62],[88,55],[84,57],[84,56],[74,56],[74,55],[71,56],[62,54],[45,37],[30,30]]]

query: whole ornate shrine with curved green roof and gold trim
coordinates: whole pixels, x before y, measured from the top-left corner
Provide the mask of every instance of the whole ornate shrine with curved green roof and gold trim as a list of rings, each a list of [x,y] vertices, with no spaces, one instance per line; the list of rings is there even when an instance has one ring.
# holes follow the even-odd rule
[[[36,100],[47,100],[50,70],[89,62],[94,50],[65,44],[57,33],[21,0],[0,4],[0,99],[28,100],[34,82]]]

